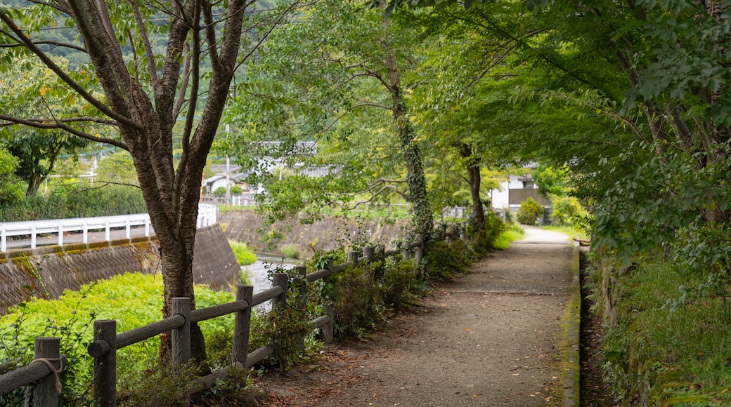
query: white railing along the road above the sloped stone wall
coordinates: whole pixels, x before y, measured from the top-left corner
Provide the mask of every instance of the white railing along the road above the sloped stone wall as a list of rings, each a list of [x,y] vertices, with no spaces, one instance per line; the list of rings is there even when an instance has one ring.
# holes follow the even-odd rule
[[[218,208],[215,205],[201,203],[198,206],[197,228],[215,225],[217,222]],[[81,232],[83,243],[88,243],[90,231],[104,230],[105,241],[111,240],[111,230],[125,230],[125,239],[131,236],[132,227],[144,227],[145,236],[154,233],[150,224],[149,214],[129,214],[106,217],[77,217],[71,219],[56,220],[29,220],[26,222],[2,222],[0,223],[0,252],[7,252],[7,238],[11,236],[30,236],[30,247],[35,249],[38,244],[39,235],[56,235],[58,240],[47,244],[64,245],[64,233]],[[26,244],[27,246],[27,244]]]

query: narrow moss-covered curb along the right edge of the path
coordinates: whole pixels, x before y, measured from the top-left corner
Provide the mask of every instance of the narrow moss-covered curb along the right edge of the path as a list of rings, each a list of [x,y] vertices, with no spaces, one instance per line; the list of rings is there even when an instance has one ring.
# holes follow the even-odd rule
[[[580,406],[579,333],[581,326],[581,277],[579,243],[574,242],[569,262],[571,295],[566,307],[567,346],[564,360],[564,407]]]

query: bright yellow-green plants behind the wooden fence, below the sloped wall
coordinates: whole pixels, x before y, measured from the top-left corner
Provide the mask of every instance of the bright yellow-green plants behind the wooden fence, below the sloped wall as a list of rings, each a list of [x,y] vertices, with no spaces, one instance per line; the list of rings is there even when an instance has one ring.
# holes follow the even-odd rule
[[[80,291],[65,291],[58,300],[32,300],[15,306],[0,318],[0,363],[5,369],[27,365],[32,360],[36,336],[58,336],[68,367],[61,373],[62,400],[67,405],[91,404],[93,382],[91,357],[85,345],[94,336],[94,319],[115,319],[118,332],[156,322],[162,309],[162,278],[143,274],[123,274],[83,286]],[[229,292],[213,292],[196,287],[200,308],[232,301]],[[200,322],[205,335],[216,330],[231,330],[232,315]],[[159,352],[159,337],[127,346],[117,353],[118,377],[139,376],[145,361]],[[133,379],[129,379],[133,380]],[[151,382],[146,382],[150,384]],[[139,389],[140,392],[143,389]]]

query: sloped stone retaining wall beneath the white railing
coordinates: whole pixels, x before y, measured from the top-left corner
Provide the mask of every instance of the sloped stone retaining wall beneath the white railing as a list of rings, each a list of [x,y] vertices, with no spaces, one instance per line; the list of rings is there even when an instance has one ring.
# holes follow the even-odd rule
[[[159,273],[156,239],[137,238],[14,251],[0,257],[0,315],[31,297],[58,298],[64,290],[140,271]],[[213,290],[228,290],[240,270],[218,225],[198,230],[193,279]]]

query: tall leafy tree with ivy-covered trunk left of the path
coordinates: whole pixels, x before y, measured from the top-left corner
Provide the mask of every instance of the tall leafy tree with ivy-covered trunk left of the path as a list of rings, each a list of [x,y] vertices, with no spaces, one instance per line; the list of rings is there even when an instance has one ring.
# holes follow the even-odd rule
[[[281,145],[294,147],[292,136],[312,140],[335,133],[347,138],[348,131],[338,128],[345,117],[368,115],[360,113],[363,110],[381,111],[389,119],[378,119],[387,128],[382,133],[398,140],[406,168],[407,188],[402,193],[412,203],[414,230],[428,236],[433,214],[410,118],[411,89],[404,84],[404,70],[414,64],[414,33],[385,19],[382,9],[366,6],[366,1],[317,1],[289,22],[266,45],[260,80],[239,88],[240,94],[262,98],[238,99],[239,107],[234,106],[238,114],[232,120],[254,122],[249,109],[258,105],[257,112],[270,121],[268,127],[256,131],[270,140],[289,140]],[[286,80],[286,85],[271,86],[270,78],[275,76]],[[390,180],[379,182],[393,187]],[[371,185],[369,191],[376,190],[383,189]]]

